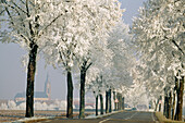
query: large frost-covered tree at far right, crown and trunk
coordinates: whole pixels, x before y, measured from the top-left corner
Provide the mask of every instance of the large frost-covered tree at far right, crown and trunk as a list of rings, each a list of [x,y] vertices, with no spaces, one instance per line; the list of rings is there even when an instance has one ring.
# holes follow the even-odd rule
[[[184,83],[184,3],[183,0],[148,0],[134,20],[132,32],[148,73],[143,75],[150,90],[173,88],[175,76]],[[176,120],[182,120],[183,98],[180,97]]]

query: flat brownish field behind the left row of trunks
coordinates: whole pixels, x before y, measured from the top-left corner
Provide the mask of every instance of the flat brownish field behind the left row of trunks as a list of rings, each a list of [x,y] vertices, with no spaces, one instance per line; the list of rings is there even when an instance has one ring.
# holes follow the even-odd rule
[[[86,113],[86,115],[92,112]],[[35,111],[35,116],[60,116],[65,119],[64,111]],[[77,118],[78,112],[74,112],[74,118]],[[23,110],[0,110],[0,122],[11,122],[25,118],[25,111]]]

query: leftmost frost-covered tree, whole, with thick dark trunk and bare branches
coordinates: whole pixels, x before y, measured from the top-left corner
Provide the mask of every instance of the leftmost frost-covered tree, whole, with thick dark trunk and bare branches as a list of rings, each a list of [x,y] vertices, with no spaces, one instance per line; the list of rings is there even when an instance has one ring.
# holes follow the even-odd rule
[[[28,52],[26,116],[34,115],[34,81],[37,54],[47,29],[62,15],[54,0],[1,0],[0,41],[15,42]],[[45,35],[46,36],[46,35]],[[53,36],[53,35],[50,35]]]

